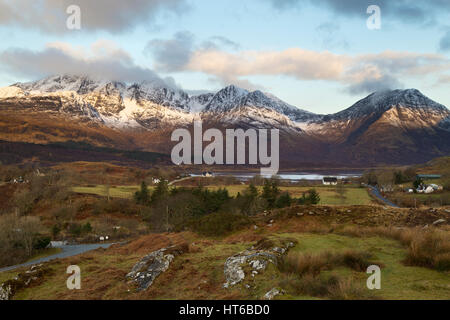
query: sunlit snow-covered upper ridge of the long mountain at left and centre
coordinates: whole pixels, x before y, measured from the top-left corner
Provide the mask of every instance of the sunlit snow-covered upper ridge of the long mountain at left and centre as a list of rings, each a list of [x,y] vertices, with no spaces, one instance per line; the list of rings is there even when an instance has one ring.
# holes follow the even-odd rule
[[[261,91],[249,92],[233,85],[215,94],[189,96],[183,90],[171,88],[159,80],[127,85],[63,75],[16,83],[1,89],[1,96],[15,100],[24,97],[26,100],[59,98],[60,111],[71,111],[74,115],[84,115],[121,128],[155,129],[186,125],[195,116],[232,124],[248,122],[253,126],[278,125],[286,128],[297,128],[296,122],[299,121],[317,119],[316,115],[273,95]],[[90,111],[86,112],[87,109]]]

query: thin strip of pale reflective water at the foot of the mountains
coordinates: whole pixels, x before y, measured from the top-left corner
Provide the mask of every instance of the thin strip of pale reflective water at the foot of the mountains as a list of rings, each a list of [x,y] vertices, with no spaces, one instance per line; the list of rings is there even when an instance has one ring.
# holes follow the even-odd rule
[[[241,181],[248,181],[253,177],[259,175],[258,172],[215,172],[215,176],[233,176]],[[193,177],[199,177],[200,174],[192,174]],[[361,172],[280,172],[278,177],[282,180],[288,180],[291,182],[307,180],[307,181],[317,181],[322,180],[324,177],[337,177],[338,179],[346,178],[358,178],[361,177]],[[270,176],[264,177],[270,178]]]

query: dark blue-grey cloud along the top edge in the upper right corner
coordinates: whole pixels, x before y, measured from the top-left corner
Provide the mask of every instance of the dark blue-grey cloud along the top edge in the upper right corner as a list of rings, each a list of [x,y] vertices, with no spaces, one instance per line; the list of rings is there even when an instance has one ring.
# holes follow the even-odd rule
[[[292,9],[305,4],[302,0],[266,0],[279,10]],[[434,24],[436,15],[448,12],[448,0],[309,0],[315,6],[326,8],[343,16],[366,17],[370,5],[378,5],[383,15],[406,23]]]

